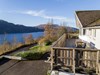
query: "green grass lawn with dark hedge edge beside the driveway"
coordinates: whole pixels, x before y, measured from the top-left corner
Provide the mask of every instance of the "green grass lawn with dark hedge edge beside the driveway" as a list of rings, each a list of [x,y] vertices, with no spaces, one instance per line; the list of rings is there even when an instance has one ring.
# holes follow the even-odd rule
[[[19,52],[15,56],[20,56],[29,60],[40,59],[46,52],[50,51],[50,46],[37,45],[31,47],[28,51]]]

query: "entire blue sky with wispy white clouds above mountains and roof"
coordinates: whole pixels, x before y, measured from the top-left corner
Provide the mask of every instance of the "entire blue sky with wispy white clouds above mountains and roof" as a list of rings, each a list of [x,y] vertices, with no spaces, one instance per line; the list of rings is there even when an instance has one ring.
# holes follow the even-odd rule
[[[76,27],[77,10],[100,10],[100,0],[0,0],[0,19],[26,26],[53,19],[53,23]]]

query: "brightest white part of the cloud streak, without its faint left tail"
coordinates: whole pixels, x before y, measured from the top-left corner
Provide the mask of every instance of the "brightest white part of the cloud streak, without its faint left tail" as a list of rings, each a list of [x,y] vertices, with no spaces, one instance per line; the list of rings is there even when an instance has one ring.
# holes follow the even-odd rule
[[[73,22],[72,19],[63,17],[63,16],[49,16],[46,15],[46,11],[45,10],[40,10],[40,11],[33,11],[33,10],[29,10],[29,11],[24,11],[24,12],[20,12],[22,14],[27,14],[30,16],[36,16],[36,17],[41,17],[44,19],[53,19],[53,20],[60,20],[60,21],[66,21],[66,22]]]

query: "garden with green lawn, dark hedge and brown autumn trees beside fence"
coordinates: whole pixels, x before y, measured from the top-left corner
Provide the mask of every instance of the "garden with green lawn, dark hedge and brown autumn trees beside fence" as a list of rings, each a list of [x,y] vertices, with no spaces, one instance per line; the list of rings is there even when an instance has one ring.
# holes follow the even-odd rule
[[[28,60],[41,59],[44,54],[50,52],[50,46],[52,43],[67,31],[65,26],[54,27],[50,23],[48,23],[44,29],[44,37],[35,40],[37,42],[36,46],[31,47],[27,51],[19,52],[15,54],[15,56],[20,56]]]

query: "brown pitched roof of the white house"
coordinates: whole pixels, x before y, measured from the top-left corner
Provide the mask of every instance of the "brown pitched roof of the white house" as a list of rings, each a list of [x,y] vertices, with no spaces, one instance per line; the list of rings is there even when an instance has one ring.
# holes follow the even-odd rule
[[[96,26],[96,25],[90,26],[90,24],[100,19],[100,10],[76,11],[76,14],[83,27]]]

